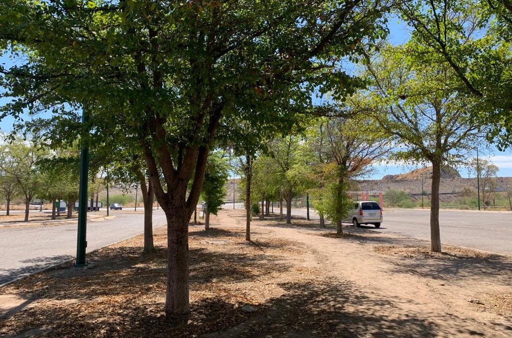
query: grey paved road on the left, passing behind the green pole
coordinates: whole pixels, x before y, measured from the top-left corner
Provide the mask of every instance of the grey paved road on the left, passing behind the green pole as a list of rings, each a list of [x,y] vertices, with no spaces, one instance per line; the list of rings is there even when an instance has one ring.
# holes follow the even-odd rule
[[[142,213],[112,211],[116,218],[87,224],[87,252],[143,231]],[[153,227],[165,224],[154,210]],[[0,228],[0,284],[76,256],[76,224],[48,227]]]

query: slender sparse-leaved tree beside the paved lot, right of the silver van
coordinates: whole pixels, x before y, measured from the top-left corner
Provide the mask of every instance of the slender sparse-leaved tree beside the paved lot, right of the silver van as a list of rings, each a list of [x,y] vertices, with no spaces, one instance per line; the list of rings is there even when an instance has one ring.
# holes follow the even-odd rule
[[[441,166],[461,163],[487,128],[468,116],[478,104],[461,92],[454,70],[424,67],[407,47],[387,47],[367,66],[371,116],[400,146],[397,160],[432,164],[431,249],[441,252]]]

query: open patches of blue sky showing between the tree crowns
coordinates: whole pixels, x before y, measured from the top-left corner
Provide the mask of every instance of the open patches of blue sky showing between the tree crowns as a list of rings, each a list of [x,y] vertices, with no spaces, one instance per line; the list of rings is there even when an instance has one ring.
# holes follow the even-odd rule
[[[409,30],[407,26],[401,22],[397,17],[390,18],[389,21],[390,35],[388,37],[389,41],[394,45],[399,45],[404,42],[407,42],[409,39]],[[8,55],[3,55],[0,57],[0,64],[5,68],[9,68],[13,65],[15,61],[10,59]],[[0,98],[0,106],[4,105],[8,100],[6,98]],[[30,118],[27,114],[23,115],[24,120]],[[0,130],[3,132],[9,132],[13,127],[13,118],[8,116],[5,117],[2,121],[0,121]],[[494,146],[490,146],[490,150],[487,153],[483,153],[481,155],[482,158],[487,158],[496,164],[500,171],[498,173],[499,176],[512,176],[512,149],[509,149],[505,152],[500,152]],[[416,168],[420,168],[422,165],[418,166],[403,166],[399,164],[388,164],[388,165],[377,165],[374,166],[374,170],[370,176],[366,178],[370,179],[379,179],[383,175],[387,174],[399,174],[411,171]],[[463,177],[470,177],[471,172],[467,170],[467,168],[458,168],[460,174]]]

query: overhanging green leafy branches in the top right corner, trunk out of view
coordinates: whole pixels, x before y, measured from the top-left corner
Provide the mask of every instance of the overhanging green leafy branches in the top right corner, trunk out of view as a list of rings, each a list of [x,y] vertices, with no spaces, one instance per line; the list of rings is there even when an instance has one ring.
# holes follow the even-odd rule
[[[508,0],[401,2],[399,12],[414,31],[409,53],[424,67],[453,70],[460,94],[475,99],[470,114],[493,126],[487,139],[512,145],[512,6]]]

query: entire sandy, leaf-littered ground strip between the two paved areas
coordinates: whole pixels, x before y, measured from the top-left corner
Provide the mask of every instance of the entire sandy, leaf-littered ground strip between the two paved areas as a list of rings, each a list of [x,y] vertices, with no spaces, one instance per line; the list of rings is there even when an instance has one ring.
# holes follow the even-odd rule
[[[0,289],[0,336],[512,336],[512,259],[366,229],[223,210],[190,226],[190,302],[165,319],[165,229]],[[327,234],[327,236],[326,236]],[[250,305],[250,307],[247,307]]]

